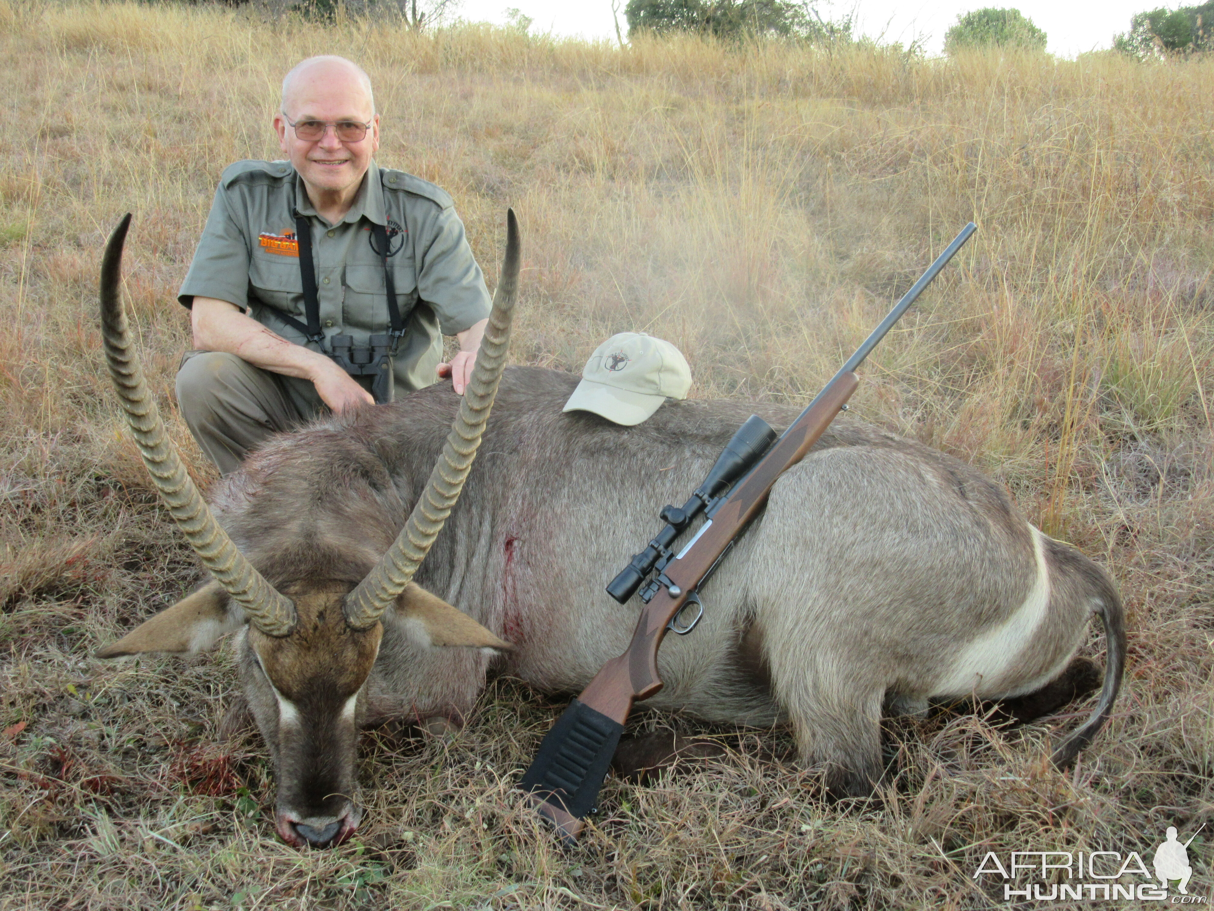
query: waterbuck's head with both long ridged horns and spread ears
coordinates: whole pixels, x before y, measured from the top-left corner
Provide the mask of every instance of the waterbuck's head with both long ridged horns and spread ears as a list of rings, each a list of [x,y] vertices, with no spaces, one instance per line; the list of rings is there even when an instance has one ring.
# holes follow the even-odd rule
[[[307,572],[277,578],[277,589],[215,521],[148,392],[119,293],[129,225],[126,215],[102,260],[106,360],[153,482],[214,581],[102,649],[98,657],[200,651],[227,633],[244,636],[245,691],[278,777],[278,833],[296,847],[337,844],[359,822],[353,794],[361,696],[384,623],[398,624],[437,647],[510,647],[412,578],[459,498],[505,366],[520,264],[514,211],[507,213],[501,279],[472,379],[439,460],[396,542],[365,576],[352,577],[348,566],[327,571],[329,561],[317,559]]]

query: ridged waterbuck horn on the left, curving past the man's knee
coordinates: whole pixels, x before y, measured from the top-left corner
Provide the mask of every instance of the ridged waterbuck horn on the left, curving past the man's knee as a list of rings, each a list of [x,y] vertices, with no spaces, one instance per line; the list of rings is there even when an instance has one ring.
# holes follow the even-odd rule
[[[253,564],[215,521],[174,448],[157,411],[155,400],[143,379],[143,368],[131,345],[131,333],[123,311],[123,244],[131,225],[127,213],[109,236],[101,261],[101,333],[106,363],[114,389],[126,411],[135,442],[143,455],[152,481],[191,545],[225,590],[244,607],[249,622],[266,635],[285,635],[295,626],[295,605],[262,578]]]

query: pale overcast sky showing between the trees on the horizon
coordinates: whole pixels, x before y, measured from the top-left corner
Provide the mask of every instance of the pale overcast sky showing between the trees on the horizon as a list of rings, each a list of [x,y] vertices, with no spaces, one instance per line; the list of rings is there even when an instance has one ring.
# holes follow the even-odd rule
[[[625,0],[620,0],[623,11]],[[1015,6],[1031,18],[1049,38],[1048,49],[1060,57],[1073,57],[1083,51],[1108,47],[1113,35],[1127,32],[1135,12],[1151,10],[1161,0],[836,0],[819,6],[823,18],[838,18],[855,9],[862,34],[878,36],[884,33],[890,41],[909,44],[926,38],[927,53],[940,53],[944,32],[957,22],[959,13],[983,6]],[[556,35],[612,38],[611,0],[464,0],[459,15],[472,22],[506,21],[507,7],[518,9],[534,19],[532,32],[552,32]],[[620,12],[620,30],[628,30]]]

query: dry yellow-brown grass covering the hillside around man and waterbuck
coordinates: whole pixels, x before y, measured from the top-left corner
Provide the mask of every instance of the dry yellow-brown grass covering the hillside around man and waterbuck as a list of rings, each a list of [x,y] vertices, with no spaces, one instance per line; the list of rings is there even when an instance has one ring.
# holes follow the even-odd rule
[[[1002,890],[971,878],[988,850],[1146,854],[1210,817],[1214,63],[618,50],[11,0],[0,35],[0,907],[991,907]],[[216,734],[227,653],[90,657],[193,578],[120,432],[95,282],[134,210],[127,300],[174,414],[174,295],[217,175],[276,157],[276,85],[320,51],[365,64],[380,160],[455,196],[490,283],[518,210],[518,362],[579,369],[645,329],[687,352],[696,395],[805,401],[977,221],[855,406],[981,465],[1117,576],[1125,689],[1073,774],[1044,766],[1044,725],[941,717],[892,731],[880,799],[826,807],[765,752],[787,734],[748,734],[703,769],[609,782],[566,854],[509,790],[560,701],[499,681],[450,742],[369,735],[353,843],[276,843],[260,743]]]

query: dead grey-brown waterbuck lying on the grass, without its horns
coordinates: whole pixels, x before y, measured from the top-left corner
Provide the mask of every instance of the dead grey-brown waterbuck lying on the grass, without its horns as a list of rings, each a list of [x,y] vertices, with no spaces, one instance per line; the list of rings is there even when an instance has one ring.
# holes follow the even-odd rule
[[[119,255],[112,242],[103,300],[114,306]],[[313,830],[340,822],[347,836],[356,725],[459,723],[490,668],[543,691],[584,688],[629,643],[637,611],[603,588],[657,531],[657,510],[686,498],[753,411],[776,428],[796,417],[683,401],[624,428],[562,413],[577,383],[505,370],[463,493],[425,562],[409,565],[418,587],[402,583],[378,622],[351,626],[350,605],[429,502],[461,408],[446,385],[274,437],[212,490],[232,553],[314,617],[316,633],[267,628],[253,612],[266,609],[234,604],[242,585],[211,583],[102,653],[197,651],[250,617],[240,669],[276,759],[279,832],[319,842]],[[1121,683],[1122,606],[1101,568],[1031,526],[970,465],[850,414],[776,483],[700,594],[704,617],[666,638],[665,686],[646,705],[722,724],[789,722],[801,760],[836,794],[869,793],[881,777],[883,708],[1037,692],[1062,674],[1091,613],[1106,630],[1104,689],[1055,763],[1091,741]],[[328,764],[341,774],[322,776]],[[340,792],[340,814],[325,788]]]

